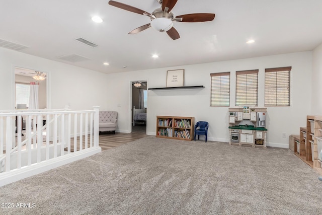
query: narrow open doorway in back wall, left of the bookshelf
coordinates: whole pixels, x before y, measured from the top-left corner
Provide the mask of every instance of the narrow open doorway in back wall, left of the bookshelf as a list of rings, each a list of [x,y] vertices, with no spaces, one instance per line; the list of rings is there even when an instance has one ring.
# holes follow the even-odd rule
[[[146,134],[147,81],[132,81],[131,132]]]

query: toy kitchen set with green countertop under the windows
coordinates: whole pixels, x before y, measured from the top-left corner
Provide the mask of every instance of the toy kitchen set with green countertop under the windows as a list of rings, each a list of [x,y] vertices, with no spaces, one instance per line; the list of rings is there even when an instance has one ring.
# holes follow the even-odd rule
[[[267,108],[229,108],[229,145],[266,149]]]

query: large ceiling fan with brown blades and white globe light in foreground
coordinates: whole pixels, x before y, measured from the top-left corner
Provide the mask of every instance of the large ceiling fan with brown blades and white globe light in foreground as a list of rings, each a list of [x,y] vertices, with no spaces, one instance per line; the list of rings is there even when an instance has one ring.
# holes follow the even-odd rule
[[[159,32],[167,32],[167,34],[173,39],[179,39],[180,35],[178,31],[173,27],[174,21],[178,22],[206,22],[212,21],[215,18],[215,14],[207,14],[207,13],[198,13],[198,14],[185,14],[180,16],[174,16],[171,13],[171,10],[175,7],[178,0],[156,0],[161,8],[154,10],[151,14],[145,12],[141,9],[134,8],[129,5],[125,5],[123,3],[109,1],[109,5],[130,11],[133,13],[141,14],[143,16],[147,16],[151,19],[151,23],[146,25],[142,25],[133,31],[129,32],[129,34],[136,34],[141,32],[149,27],[156,29]]]

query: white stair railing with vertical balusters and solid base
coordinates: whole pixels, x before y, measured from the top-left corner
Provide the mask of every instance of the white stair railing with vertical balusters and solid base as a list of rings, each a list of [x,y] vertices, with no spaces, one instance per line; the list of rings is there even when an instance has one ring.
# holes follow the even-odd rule
[[[93,108],[1,111],[0,186],[101,152]]]

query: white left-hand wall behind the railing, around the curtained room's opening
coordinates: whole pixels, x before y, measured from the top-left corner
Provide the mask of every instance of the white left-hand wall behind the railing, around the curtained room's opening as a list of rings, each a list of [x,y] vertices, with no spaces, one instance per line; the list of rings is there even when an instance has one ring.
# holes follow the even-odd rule
[[[96,105],[102,110],[107,107],[106,74],[0,48],[0,110],[15,108],[15,66],[48,74],[48,109],[65,105],[73,110],[91,110]]]

